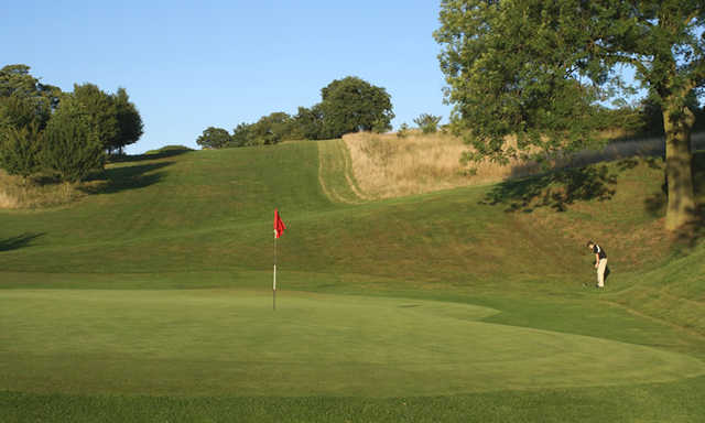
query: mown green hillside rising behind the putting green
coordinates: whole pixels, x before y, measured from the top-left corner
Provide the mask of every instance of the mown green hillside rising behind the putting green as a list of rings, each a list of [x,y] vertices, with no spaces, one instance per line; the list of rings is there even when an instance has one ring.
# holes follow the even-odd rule
[[[273,259],[275,207],[290,227],[279,246],[281,267],[296,279],[329,275],[338,288],[380,276],[404,290],[573,291],[592,282],[587,239],[609,246],[615,288],[621,288],[636,280],[632,272],[658,269],[671,257],[661,230],[658,160],[349,204],[326,195],[347,189],[341,195],[355,198],[346,167],[333,162],[318,172],[318,150],[343,149],[336,141],[300,142],[111,165],[102,191],[69,207],[2,212],[6,283],[28,284],[28,273],[162,281],[165,273],[253,272],[256,279],[216,284],[258,285]],[[702,167],[696,178],[703,180]],[[330,181],[323,184],[328,188],[321,181]],[[192,278],[187,285],[202,283]]]

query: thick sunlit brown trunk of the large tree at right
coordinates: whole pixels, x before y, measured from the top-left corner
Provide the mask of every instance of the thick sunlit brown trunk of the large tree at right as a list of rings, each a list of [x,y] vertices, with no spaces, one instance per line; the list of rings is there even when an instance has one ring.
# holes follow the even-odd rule
[[[666,102],[663,108],[665,177],[669,189],[665,228],[673,231],[695,217],[693,153],[691,152],[691,130],[695,118],[687,107],[674,107],[673,102]]]

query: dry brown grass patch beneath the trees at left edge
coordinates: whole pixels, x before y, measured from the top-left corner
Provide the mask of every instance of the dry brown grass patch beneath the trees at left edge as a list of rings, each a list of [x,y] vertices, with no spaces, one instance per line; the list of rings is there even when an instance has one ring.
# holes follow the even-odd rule
[[[72,203],[85,194],[73,184],[40,184],[0,170],[0,208],[32,209]]]

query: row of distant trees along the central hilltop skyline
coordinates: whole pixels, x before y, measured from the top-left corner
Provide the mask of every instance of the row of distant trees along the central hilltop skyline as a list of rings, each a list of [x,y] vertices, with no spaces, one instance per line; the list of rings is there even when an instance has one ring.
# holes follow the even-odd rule
[[[384,88],[355,76],[336,79],[321,89],[321,102],[299,107],[296,115],[270,113],[254,123],[240,123],[232,133],[209,127],[196,143],[203,148],[276,144],[286,140],[326,140],[349,132],[391,130],[391,96]]]

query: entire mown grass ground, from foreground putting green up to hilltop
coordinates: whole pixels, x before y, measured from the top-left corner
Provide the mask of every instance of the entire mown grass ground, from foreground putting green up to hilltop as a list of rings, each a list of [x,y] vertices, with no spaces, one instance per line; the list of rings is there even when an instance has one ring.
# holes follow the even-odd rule
[[[2,420],[705,419],[705,248],[662,231],[660,160],[372,202],[346,154],[144,155],[0,212]]]

